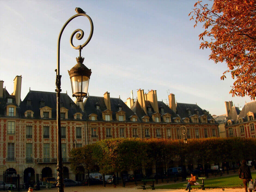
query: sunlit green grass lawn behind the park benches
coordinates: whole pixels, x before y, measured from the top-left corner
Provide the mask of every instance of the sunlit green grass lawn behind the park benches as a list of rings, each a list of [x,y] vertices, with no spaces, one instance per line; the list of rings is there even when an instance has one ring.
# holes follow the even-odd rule
[[[252,178],[256,178],[256,172],[252,173]],[[198,180],[198,182],[201,184],[202,180]],[[243,185],[242,180],[239,179],[238,175],[233,176],[227,176],[227,177],[221,177],[221,178],[211,178],[211,179],[205,179],[205,187],[206,188],[217,188],[217,187],[240,187]],[[159,189],[177,189],[177,188],[185,188],[184,186],[187,184],[187,182],[183,183],[177,183],[177,184],[170,184],[170,185],[162,185],[157,186],[156,188]],[[193,187],[200,187],[200,185],[193,185]]]

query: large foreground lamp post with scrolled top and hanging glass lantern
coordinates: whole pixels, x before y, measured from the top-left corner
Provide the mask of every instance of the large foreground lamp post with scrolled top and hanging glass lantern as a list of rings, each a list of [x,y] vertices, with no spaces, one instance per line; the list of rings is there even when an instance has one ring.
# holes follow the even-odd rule
[[[93,35],[93,22],[92,19],[84,13],[78,13],[75,14],[74,16],[70,17],[66,23],[63,25],[59,37],[58,37],[58,45],[57,45],[57,69],[56,71],[56,89],[55,91],[57,92],[57,185],[56,187],[58,188],[58,192],[64,192],[64,184],[63,184],[63,163],[62,163],[62,152],[61,152],[61,130],[60,130],[60,38],[62,36],[62,33],[66,26],[68,25],[71,20],[73,20],[76,17],[79,16],[85,16],[89,19],[90,25],[91,25],[91,31],[88,39],[83,45],[78,45],[77,47],[74,46],[73,44],[73,38],[74,35],[76,34],[76,39],[81,40],[84,37],[84,31],[81,29],[76,29],[71,37],[70,37],[70,45],[74,49],[79,50],[79,57],[77,57],[77,64],[68,71],[70,80],[71,80],[71,87],[72,87],[72,96],[77,98],[77,101],[82,102],[83,97],[87,97],[87,90],[88,90],[88,85],[89,85],[89,79],[91,75],[91,69],[88,69],[84,64],[84,58],[81,57],[81,50],[83,47],[85,47],[89,41],[92,38]],[[80,33],[78,33],[80,32]]]

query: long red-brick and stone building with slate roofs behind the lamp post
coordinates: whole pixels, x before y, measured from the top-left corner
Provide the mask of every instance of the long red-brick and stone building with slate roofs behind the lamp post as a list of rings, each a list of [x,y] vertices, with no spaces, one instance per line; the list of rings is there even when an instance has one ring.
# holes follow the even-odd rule
[[[12,94],[0,81],[0,172],[18,173],[26,182],[28,173],[32,180],[37,173],[56,173],[56,93],[30,90],[21,100],[21,80],[14,79]],[[176,103],[170,94],[167,106],[157,100],[156,90],[137,94],[136,101],[128,98],[125,103],[108,92],[75,103],[61,93],[64,177],[71,172],[69,151],[101,139],[178,139],[182,125],[188,138],[219,136],[217,122],[198,105]]]

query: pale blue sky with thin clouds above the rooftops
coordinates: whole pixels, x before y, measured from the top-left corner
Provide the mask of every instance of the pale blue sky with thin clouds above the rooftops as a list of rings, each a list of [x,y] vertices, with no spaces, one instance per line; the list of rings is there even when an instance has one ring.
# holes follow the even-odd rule
[[[94,32],[83,48],[84,64],[92,69],[89,95],[125,102],[133,90],[157,90],[158,100],[175,94],[180,103],[197,103],[212,115],[225,114],[225,101],[235,106],[251,102],[248,96],[229,94],[234,80],[220,80],[226,63],[209,60],[210,50],[200,50],[201,27],[193,28],[188,14],[195,1],[15,1],[0,0],[0,80],[11,94],[13,80],[22,75],[21,99],[31,90],[54,92],[57,38],[60,29],[80,7],[92,18]],[[75,29],[90,32],[89,20],[77,17],[63,32],[60,43],[62,93],[72,97],[68,75],[78,50],[69,45]],[[83,41],[83,42],[81,42]],[[73,98],[73,100],[75,100]]]

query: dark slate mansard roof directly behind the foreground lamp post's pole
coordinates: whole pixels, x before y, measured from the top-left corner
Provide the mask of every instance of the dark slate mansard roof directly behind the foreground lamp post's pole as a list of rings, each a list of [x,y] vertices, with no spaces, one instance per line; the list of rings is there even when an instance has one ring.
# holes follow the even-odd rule
[[[27,100],[31,101],[31,105],[27,105]],[[42,91],[29,91],[26,95],[25,99],[20,103],[20,114],[22,118],[25,117],[24,113],[27,110],[31,110],[34,112],[32,118],[41,119],[40,116],[40,108],[41,101],[44,101],[44,106],[48,106],[52,108],[52,118],[56,119],[57,111],[56,111],[56,92],[42,92]],[[74,114],[80,112],[83,114],[79,106],[77,106],[74,101],[68,96],[66,93],[60,93],[60,103],[63,103],[62,106],[68,109],[68,120],[74,120]],[[71,106],[71,104],[74,104]],[[82,118],[84,120],[84,118]]]

